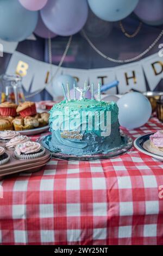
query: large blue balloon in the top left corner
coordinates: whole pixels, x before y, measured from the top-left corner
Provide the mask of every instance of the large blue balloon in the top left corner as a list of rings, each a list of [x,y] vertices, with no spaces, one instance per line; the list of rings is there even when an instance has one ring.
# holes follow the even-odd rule
[[[5,41],[22,41],[33,33],[38,11],[29,11],[18,0],[0,1],[0,38]]]

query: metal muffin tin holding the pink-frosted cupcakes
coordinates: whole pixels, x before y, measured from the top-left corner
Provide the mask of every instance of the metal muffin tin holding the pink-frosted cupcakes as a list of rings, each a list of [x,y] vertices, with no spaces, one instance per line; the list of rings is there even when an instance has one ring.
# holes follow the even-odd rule
[[[5,143],[0,142],[0,146],[5,148]],[[47,162],[51,160],[51,153],[46,149],[45,154],[36,159],[20,160],[14,156],[13,150],[5,149],[5,152],[10,155],[9,162],[0,165],[0,180],[8,175],[13,175],[20,172],[33,173],[40,170]]]

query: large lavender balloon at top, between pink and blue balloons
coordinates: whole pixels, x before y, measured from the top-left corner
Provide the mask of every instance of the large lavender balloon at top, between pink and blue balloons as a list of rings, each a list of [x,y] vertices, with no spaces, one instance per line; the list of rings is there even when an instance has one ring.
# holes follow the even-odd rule
[[[73,35],[83,28],[88,14],[86,0],[48,0],[41,10],[45,25],[62,36]]]

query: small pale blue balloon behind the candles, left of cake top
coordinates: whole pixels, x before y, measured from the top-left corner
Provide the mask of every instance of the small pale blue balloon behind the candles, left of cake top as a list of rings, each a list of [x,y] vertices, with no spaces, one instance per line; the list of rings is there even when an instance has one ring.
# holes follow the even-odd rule
[[[70,90],[73,88],[73,83],[76,83],[76,79],[70,75],[60,75],[53,81],[53,93],[54,97],[64,96],[62,83],[65,86],[65,91],[67,93],[67,86],[66,84],[69,83]]]

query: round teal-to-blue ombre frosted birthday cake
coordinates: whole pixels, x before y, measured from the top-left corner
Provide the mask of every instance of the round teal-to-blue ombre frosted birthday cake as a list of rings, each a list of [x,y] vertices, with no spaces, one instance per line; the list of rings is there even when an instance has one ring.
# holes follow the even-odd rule
[[[70,98],[53,106],[46,144],[52,152],[85,156],[120,147],[122,139],[116,102]]]

